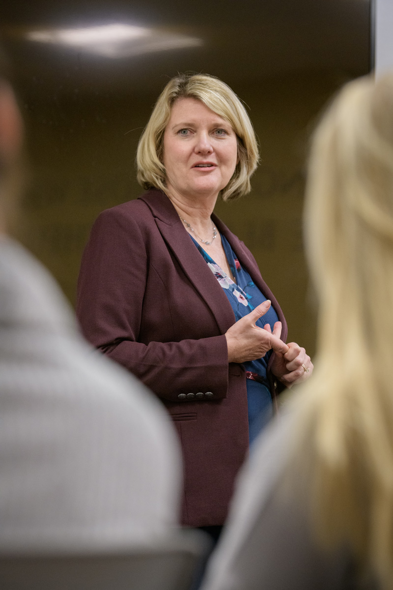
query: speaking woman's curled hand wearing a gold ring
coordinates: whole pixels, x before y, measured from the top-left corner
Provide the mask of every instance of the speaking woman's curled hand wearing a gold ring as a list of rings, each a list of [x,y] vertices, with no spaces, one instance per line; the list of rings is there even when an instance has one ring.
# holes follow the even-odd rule
[[[264,329],[267,332],[272,331],[269,324],[266,324]],[[305,349],[296,342],[290,342],[287,352],[275,352],[271,370],[279,381],[290,388],[292,385],[302,383],[311,377],[313,368],[314,366]]]

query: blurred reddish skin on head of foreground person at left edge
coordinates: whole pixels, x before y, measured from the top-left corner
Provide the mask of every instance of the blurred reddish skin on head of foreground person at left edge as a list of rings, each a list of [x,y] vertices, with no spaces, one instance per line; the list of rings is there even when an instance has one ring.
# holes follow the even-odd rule
[[[8,83],[0,83],[0,162],[14,162],[22,148],[23,123],[15,94]]]

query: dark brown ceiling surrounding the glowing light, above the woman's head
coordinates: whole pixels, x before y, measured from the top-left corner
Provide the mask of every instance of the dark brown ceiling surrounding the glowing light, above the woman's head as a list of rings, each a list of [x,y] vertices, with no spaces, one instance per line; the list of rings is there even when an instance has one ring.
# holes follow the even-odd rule
[[[190,35],[198,47],[107,58],[27,41],[31,28],[114,22]],[[35,91],[156,91],[177,71],[261,80],[298,71],[358,76],[370,66],[369,0],[5,0],[0,31],[24,94]]]

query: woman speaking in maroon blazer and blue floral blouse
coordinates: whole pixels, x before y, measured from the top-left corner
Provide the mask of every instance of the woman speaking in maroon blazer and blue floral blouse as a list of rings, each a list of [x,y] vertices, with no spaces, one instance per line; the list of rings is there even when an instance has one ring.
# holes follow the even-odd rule
[[[161,93],[137,151],[147,192],[101,213],[78,281],[84,335],[164,402],[184,460],[183,523],[220,527],[280,389],[312,373],[255,258],[213,214],[250,191],[246,110],[212,76]],[[212,530],[210,530],[212,532]]]

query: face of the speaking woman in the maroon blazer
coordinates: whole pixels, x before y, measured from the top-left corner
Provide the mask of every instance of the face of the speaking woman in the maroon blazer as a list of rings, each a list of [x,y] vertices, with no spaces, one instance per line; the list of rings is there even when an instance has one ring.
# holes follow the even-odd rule
[[[237,138],[200,100],[178,99],[164,131],[166,186],[178,198],[217,198],[232,178]]]

